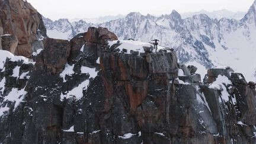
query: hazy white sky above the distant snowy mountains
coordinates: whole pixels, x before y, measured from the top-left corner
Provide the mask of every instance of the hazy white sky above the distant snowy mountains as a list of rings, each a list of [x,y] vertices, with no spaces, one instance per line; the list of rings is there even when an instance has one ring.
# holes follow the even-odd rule
[[[53,20],[59,18],[95,18],[105,15],[128,14],[170,14],[178,12],[248,11],[254,0],[27,0],[42,15]]]

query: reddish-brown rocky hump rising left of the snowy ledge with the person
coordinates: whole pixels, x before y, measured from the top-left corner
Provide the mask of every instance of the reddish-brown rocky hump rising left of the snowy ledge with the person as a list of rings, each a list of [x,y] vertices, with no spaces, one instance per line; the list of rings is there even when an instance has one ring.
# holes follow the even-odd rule
[[[85,63],[87,66],[93,67],[97,59],[96,56],[103,51],[105,41],[116,39],[114,33],[101,27],[90,27],[87,33],[78,34],[71,41],[45,38],[43,40],[44,50],[36,57],[36,69],[55,75],[63,70],[67,62],[72,65],[85,55],[91,57]],[[81,53],[83,46],[86,50]]]

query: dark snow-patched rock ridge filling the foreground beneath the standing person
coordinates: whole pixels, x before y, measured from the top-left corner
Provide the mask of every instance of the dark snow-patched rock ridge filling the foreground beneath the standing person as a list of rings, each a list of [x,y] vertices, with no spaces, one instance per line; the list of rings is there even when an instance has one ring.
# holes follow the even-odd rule
[[[91,27],[35,62],[1,50],[0,143],[256,143],[254,82],[120,43]]]

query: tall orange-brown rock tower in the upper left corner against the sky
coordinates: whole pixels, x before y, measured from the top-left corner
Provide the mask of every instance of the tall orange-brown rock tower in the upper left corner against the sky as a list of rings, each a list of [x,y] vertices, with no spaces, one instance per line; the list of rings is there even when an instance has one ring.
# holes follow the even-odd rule
[[[23,0],[0,1],[0,18],[3,34],[13,34],[18,38],[16,55],[31,56],[31,47],[37,40],[38,30],[41,29],[41,34],[46,36],[41,15]]]

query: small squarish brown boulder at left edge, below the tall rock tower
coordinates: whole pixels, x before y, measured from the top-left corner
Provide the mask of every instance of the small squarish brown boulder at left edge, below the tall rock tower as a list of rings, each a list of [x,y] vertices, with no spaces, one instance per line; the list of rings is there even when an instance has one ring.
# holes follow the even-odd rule
[[[11,34],[5,34],[1,36],[1,39],[2,39],[2,49],[7,50],[14,54],[18,46],[18,38]]]

